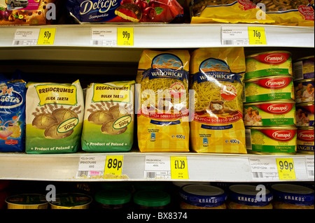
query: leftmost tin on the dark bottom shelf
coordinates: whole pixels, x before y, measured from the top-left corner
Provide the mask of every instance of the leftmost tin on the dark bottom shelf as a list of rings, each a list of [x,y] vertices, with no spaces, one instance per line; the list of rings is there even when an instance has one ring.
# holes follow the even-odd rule
[[[8,209],[47,209],[48,201],[41,194],[18,194],[6,199]]]

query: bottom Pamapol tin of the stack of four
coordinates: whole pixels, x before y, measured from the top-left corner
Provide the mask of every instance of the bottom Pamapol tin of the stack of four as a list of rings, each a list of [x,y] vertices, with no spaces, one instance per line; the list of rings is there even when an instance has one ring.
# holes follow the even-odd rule
[[[246,149],[254,154],[294,154],[296,127],[247,127]]]

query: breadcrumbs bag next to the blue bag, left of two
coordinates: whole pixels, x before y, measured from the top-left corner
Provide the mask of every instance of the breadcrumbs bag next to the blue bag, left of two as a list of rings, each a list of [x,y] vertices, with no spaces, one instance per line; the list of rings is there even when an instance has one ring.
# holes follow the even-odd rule
[[[79,80],[31,83],[26,99],[27,153],[68,153],[80,148],[84,101]]]

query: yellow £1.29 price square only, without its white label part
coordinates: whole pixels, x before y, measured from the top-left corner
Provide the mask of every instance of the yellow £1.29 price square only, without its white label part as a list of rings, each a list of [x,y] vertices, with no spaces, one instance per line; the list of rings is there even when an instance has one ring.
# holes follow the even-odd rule
[[[172,179],[189,179],[187,157],[171,157]]]

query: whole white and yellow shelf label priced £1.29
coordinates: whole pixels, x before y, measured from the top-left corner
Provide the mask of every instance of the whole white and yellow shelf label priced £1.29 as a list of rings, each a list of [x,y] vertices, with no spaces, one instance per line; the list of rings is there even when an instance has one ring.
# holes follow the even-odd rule
[[[146,156],[144,179],[188,180],[186,156]]]

